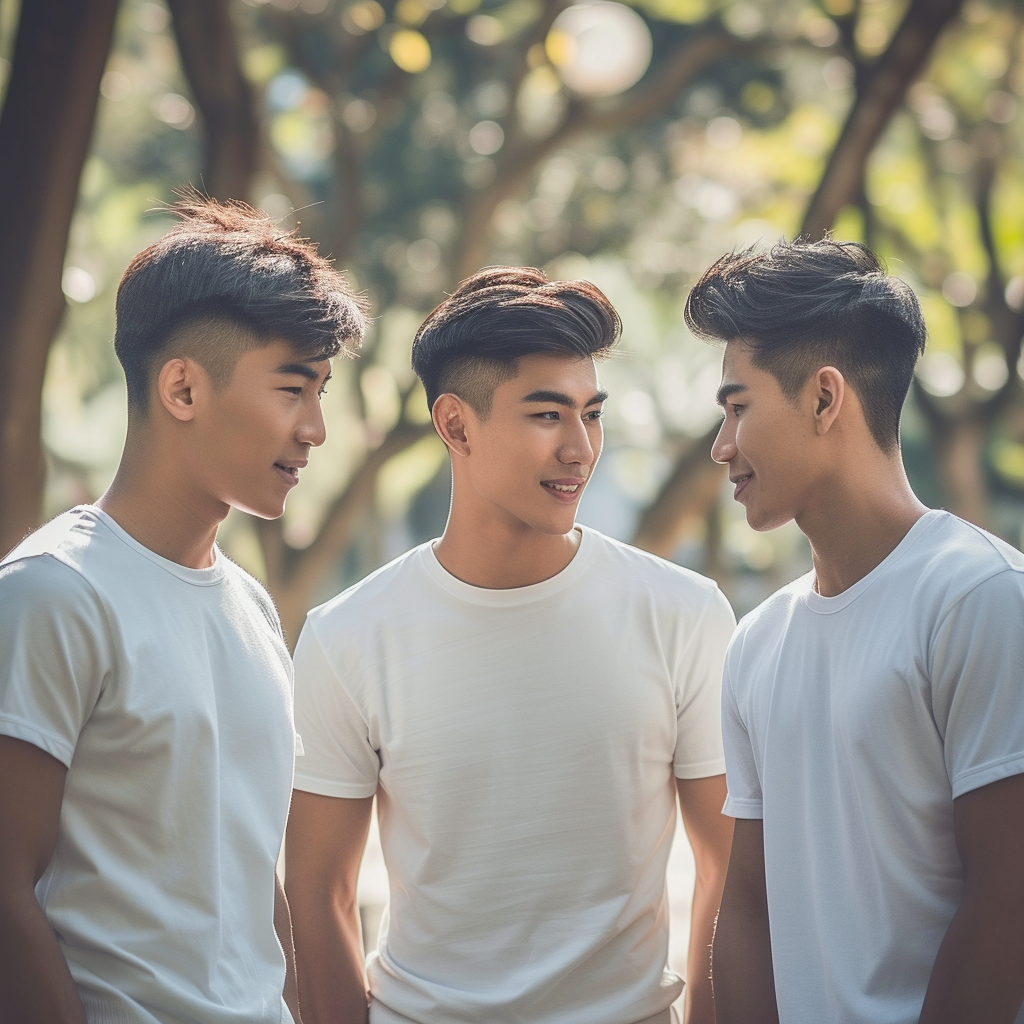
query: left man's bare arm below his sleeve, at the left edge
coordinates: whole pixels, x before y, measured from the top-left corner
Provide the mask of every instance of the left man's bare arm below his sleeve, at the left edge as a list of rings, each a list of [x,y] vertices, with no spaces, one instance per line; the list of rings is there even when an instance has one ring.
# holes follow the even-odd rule
[[[38,746],[0,736],[0,1024],[86,1024],[35,893],[56,845],[67,774]]]

